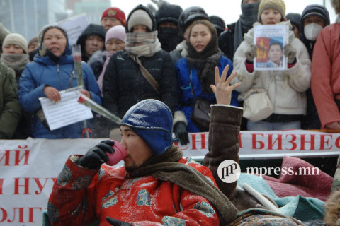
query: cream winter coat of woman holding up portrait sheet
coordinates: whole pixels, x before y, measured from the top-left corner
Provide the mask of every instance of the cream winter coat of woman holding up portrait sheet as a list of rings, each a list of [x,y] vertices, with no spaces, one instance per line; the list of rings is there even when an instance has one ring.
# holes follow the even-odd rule
[[[289,21],[279,24],[291,27]],[[256,25],[261,25],[261,23],[254,23],[254,26]],[[311,62],[305,45],[290,31],[289,44],[297,50],[296,64],[285,71],[253,71],[249,73],[245,65],[245,52],[253,42],[254,28],[244,35],[244,41],[234,54],[234,71],[237,71],[238,75],[232,84],[242,82],[242,85],[236,89],[241,93],[239,100],[244,100],[248,90],[268,88],[268,96],[273,104],[275,114],[306,114],[305,91],[310,88]],[[274,78],[271,81],[272,76]]]

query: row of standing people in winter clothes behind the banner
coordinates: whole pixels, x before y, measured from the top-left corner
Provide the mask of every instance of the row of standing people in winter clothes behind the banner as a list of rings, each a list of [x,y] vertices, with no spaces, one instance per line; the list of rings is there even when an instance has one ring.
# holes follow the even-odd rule
[[[200,6],[183,10],[166,1],[159,1],[154,13],[137,6],[128,19],[120,8],[107,8],[101,24],[89,24],[77,40],[84,71],[81,92],[120,118],[141,100],[164,102],[174,116],[176,138],[186,145],[188,133],[208,131],[193,120],[194,109],[201,100],[216,102],[209,87],[214,83],[212,73],[215,66],[222,71],[229,65],[228,76],[232,71],[238,72],[232,84],[242,82],[232,93],[232,105],[243,107],[249,95],[259,89],[266,90],[273,105],[269,116],[256,121],[243,117],[242,130],[340,129],[336,78],[329,74],[329,79],[322,80],[327,81],[324,85],[317,79],[330,70],[331,66],[324,66],[333,61],[329,59],[322,66],[315,66],[319,60],[312,61],[313,55],[321,62],[329,56],[321,50],[322,54],[314,53],[314,46],[321,44],[321,40],[317,43],[319,33],[330,24],[327,8],[312,4],[301,15],[286,15],[281,0],[244,0],[241,9],[239,20],[226,25],[219,16],[208,16]],[[266,54],[272,71],[254,70],[254,59],[260,50],[253,44],[254,28],[276,24],[289,29],[288,42],[285,46],[271,42]],[[0,42],[0,61],[8,67],[8,73],[15,73],[12,92],[18,95],[17,100],[4,100],[1,119],[11,119],[7,126],[1,126],[0,137],[80,138],[84,130],[81,123],[51,131],[39,101],[40,97],[60,101],[59,91],[77,86],[67,32],[45,25],[37,37],[27,42],[1,25]],[[322,45],[332,46],[331,42],[334,40]],[[283,57],[288,65],[276,71],[276,67],[283,67]],[[15,103],[9,104],[10,101]],[[334,111],[329,113],[329,107]],[[94,138],[120,135],[119,125],[100,114],[95,114],[87,125]]]

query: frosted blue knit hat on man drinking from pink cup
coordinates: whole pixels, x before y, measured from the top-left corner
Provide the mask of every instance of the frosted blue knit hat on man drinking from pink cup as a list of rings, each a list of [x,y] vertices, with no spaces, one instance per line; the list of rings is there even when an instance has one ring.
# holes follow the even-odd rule
[[[124,115],[121,125],[129,126],[152,149],[161,155],[172,146],[173,118],[169,107],[159,100],[142,100]]]

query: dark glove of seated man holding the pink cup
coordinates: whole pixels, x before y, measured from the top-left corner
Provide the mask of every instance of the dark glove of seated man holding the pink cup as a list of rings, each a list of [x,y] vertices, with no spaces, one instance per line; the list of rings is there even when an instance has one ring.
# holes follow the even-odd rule
[[[106,140],[98,143],[94,148],[91,148],[87,153],[80,157],[76,162],[77,165],[86,167],[88,169],[98,169],[104,162],[108,161],[106,153],[114,153],[113,145],[115,141]]]

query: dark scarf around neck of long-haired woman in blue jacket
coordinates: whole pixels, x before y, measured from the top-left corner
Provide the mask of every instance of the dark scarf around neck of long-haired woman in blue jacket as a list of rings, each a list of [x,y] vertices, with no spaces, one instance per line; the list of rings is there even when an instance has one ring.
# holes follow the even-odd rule
[[[198,78],[202,84],[202,93],[212,93],[211,84],[215,84],[215,66],[220,63],[221,51],[218,49],[217,32],[213,32],[210,42],[202,52],[197,52],[193,45],[188,42],[189,66],[198,69]]]

